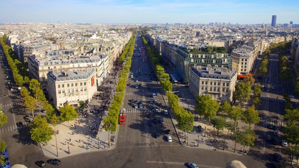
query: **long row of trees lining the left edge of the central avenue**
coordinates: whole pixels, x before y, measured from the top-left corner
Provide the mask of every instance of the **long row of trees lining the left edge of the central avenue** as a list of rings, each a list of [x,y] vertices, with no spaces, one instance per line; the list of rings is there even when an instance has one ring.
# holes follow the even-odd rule
[[[110,132],[116,132],[117,125],[118,125],[118,117],[120,114],[120,110],[122,107],[124,94],[125,94],[125,84],[127,80],[127,74],[129,73],[129,69],[131,67],[131,57],[133,55],[134,45],[136,40],[136,33],[133,34],[131,39],[129,40],[128,44],[125,47],[125,50],[120,56],[120,62],[125,61],[125,66],[123,68],[124,72],[120,73],[119,82],[116,86],[116,96],[114,96],[113,101],[109,107],[108,116],[103,120],[103,128],[108,131],[108,137],[110,137]],[[110,138],[109,138],[109,145],[110,145]]]

